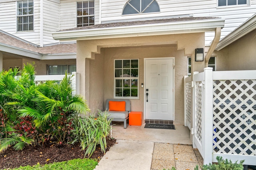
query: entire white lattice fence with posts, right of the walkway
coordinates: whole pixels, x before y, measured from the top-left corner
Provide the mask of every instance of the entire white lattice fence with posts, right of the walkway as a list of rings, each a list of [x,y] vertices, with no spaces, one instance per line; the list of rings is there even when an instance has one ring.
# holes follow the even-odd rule
[[[216,156],[256,165],[256,70],[204,72],[184,78],[185,125],[192,112],[193,147],[204,164]],[[192,90],[186,87],[191,84]],[[192,92],[192,94],[189,94]],[[190,100],[188,104],[188,100]],[[191,107],[190,107],[191,108]]]

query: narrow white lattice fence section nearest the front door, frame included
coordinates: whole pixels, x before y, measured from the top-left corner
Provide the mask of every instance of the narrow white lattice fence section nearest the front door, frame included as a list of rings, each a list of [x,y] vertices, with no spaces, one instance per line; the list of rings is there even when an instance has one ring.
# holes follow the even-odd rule
[[[191,77],[186,77],[184,81],[184,99],[185,99],[185,125],[191,130],[191,121],[192,121],[192,84],[191,84]]]

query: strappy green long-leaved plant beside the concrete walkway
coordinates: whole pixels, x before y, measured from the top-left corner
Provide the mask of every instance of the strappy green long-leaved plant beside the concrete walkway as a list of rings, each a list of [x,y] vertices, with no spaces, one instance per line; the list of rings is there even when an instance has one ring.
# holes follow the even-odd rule
[[[77,117],[74,120],[74,141],[79,142],[82,150],[86,150],[85,155],[92,156],[96,146],[100,145],[102,152],[106,152],[107,142],[111,129],[111,119],[108,119],[107,111],[98,111],[98,117],[91,115],[89,117]]]

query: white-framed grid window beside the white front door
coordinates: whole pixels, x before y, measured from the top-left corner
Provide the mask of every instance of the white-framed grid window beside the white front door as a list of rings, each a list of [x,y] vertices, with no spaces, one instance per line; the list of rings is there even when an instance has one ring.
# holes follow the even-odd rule
[[[114,60],[114,98],[138,99],[139,60]]]

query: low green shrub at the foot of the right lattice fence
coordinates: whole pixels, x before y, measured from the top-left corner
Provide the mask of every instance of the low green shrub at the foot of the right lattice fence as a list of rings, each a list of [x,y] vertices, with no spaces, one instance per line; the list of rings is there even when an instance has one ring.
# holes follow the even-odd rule
[[[202,170],[243,170],[243,162],[244,160],[241,160],[238,164],[236,161],[235,163],[232,163],[231,160],[228,161],[228,159],[224,160],[221,156],[216,157],[218,163],[217,164],[206,164],[201,166]],[[198,166],[194,170],[198,170]]]

